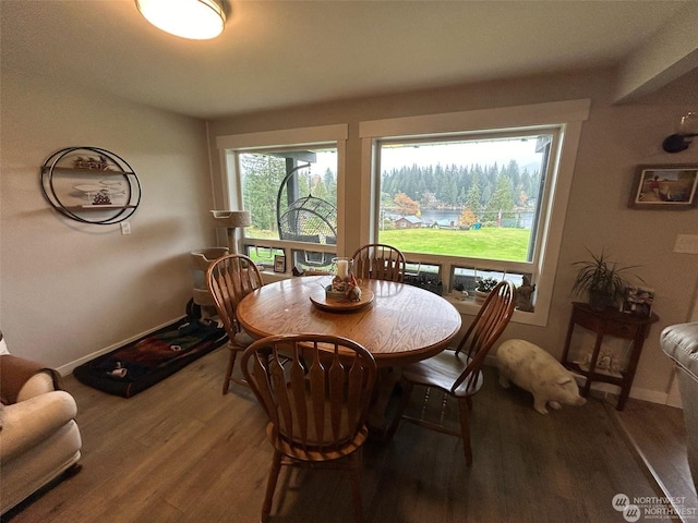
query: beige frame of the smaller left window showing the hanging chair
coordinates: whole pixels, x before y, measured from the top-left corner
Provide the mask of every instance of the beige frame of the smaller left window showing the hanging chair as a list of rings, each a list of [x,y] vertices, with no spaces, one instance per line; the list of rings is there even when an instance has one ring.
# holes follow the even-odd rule
[[[337,147],[337,255],[344,256],[346,238],[345,188],[346,188],[346,156],[349,126],[347,124],[318,125],[314,127],[285,129],[279,131],[263,131],[257,133],[230,134],[216,137],[216,147],[220,161],[221,186],[224,187],[222,200],[227,209],[242,209],[242,187],[238,175],[238,166],[234,161],[236,153],[241,150],[268,149],[273,147],[306,147],[321,144],[333,144]],[[258,243],[264,246],[278,246],[286,251],[290,257],[290,250],[302,248],[305,244],[281,240],[246,241],[245,243]],[[329,247],[317,245],[317,251],[326,251]],[[333,246],[334,251],[334,246]],[[289,258],[290,259],[290,258]],[[287,267],[287,270],[290,270]]]

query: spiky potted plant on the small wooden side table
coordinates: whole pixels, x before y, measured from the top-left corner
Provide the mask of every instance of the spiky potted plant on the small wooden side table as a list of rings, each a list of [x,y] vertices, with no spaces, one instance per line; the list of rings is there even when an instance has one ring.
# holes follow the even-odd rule
[[[591,259],[575,262],[571,265],[577,268],[577,277],[573,284],[573,292],[578,295],[587,295],[589,306],[597,311],[605,311],[615,306],[618,299],[623,297],[625,288],[629,287],[626,272],[638,267],[621,266],[606,256],[605,251],[600,255],[593,254],[587,248]],[[639,277],[635,277],[643,281]]]

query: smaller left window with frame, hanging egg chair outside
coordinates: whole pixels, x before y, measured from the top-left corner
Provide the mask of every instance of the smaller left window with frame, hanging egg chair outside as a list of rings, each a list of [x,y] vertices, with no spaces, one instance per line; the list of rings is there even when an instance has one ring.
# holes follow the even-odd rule
[[[249,210],[243,251],[261,265],[324,268],[344,234],[342,202],[346,126],[308,127],[222,136],[231,208]]]

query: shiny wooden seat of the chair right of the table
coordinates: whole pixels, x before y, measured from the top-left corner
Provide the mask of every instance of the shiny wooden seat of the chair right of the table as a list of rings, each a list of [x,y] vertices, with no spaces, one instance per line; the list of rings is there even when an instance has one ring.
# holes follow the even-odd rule
[[[421,362],[402,367],[402,378],[414,385],[436,387],[456,398],[466,398],[478,392],[482,388],[482,372],[473,380],[466,379],[456,390],[452,387],[468,366],[470,358],[462,353],[456,355],[455,351],[443,351]],[[468,384],[470,382],[470,387]]]

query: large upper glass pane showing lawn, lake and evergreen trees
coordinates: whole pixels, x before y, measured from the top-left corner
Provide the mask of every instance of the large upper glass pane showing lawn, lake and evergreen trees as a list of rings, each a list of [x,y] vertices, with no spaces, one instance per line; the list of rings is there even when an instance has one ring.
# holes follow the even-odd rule
[[[531,262],[556,135],[377,141],[378,240],[411,253]]]

